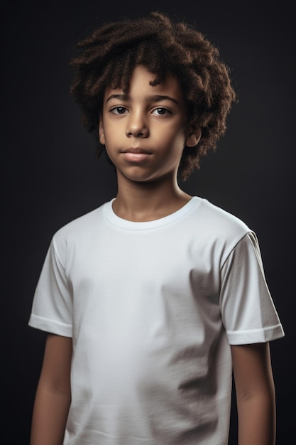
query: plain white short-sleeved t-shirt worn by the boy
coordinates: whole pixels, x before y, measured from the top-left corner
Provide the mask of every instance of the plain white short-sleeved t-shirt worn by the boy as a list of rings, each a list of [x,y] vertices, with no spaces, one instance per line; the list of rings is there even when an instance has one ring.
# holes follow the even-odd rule
[[[193,197],[165,218],[112,201],[58,230],[29,324],[72,337],[65,445],[226,445],[230,345],[284,335],[256,235]]]

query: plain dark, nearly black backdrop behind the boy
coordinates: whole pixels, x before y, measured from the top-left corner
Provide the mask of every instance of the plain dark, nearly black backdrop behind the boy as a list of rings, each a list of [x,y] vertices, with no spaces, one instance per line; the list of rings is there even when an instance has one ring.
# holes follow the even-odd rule
[[[45,335],[28,327],[53,233],[116,194],[109,164],[68,93],[73,47],[105,21],[168,12],[197,26],[239,95],[226,135],[180,184],[258,235],[285,329],[271,344],[278,445],[295,430],[295,23],[280,1],[4,1],[1,8],[1,443],[28,445]],[[235,445],[236,413],[230,444]],[[83,444],[82,444],[83,445]],[[128,444],[126,444],[128,445]]]

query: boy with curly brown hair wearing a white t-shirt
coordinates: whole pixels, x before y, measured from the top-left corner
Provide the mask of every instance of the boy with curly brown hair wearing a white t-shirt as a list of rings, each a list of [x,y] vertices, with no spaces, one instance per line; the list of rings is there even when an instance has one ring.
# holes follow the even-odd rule
[[[219,52],[159,13],[79,43],[71,94],[116,169],[109,203],[54,235],[29,324],[48,332],[31,445],[275,444],[283,328],[256,235],[178,185],[235,100]]]

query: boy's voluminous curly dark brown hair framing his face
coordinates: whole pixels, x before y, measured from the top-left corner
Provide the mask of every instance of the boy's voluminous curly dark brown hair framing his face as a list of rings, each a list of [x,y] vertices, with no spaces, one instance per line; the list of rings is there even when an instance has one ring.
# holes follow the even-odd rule
[[[187,23],[173,23],[160,12],[147,17],[104,24],[76,45],[80,51],[70,60],[75,77],[70,95],[82,109],[82,123],[99,143],[99,114],[106,87],[129,88],[136,65],[145,65],[158,85],[167,73],[180,83],[189,109],[190,122],[197,122],[202,136],[194,149],[185,146],[179,171],[183,181],[200,168],[201,156],[216,149],[226,131],[226,117],[236,100],[229,68],[219,50]]]

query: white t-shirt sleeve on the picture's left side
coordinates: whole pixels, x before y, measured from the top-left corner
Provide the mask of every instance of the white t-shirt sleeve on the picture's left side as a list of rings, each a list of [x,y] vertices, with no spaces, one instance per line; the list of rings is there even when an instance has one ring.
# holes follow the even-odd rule
[[[72,337],[72,292],[65,267],[50,243],[35,289],[29,326],[41,331]]]

